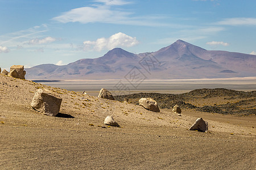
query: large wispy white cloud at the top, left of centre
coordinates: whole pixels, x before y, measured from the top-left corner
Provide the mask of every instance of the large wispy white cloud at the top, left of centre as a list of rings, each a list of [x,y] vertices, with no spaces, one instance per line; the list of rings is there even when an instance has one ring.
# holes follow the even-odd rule
[[[107,1],[97,0],[104,5],[92,5],[80,8],[74,8],[62,15],[56,16],[53,20],[61,23],[80,22],[87,23],[111,23],[111,24],[126,24],[126,25],[143,25],[150,27],[170,26],[172,24],[161,23],[161,19],[166,19],[163,15],[150,16],[133,16],[131,11],[126,11],[123,8],[114,8],[113,5],[126,5],[130,2],[126,1]]]

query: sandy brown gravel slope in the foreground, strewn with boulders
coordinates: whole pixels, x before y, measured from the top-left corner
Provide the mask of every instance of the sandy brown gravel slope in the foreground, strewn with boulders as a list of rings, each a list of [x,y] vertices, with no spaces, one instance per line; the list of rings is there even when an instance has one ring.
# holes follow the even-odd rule
[[[57,117],[46,116],[30,107],[39,88],[47,88],[63,99]],[[201,102],[205,101],[195,101]],[[255,114],[242,117],[181,109],[181,117],[170,108],[155,113],[134,104],[82,96],[0,75],[0,167],[256,168]],[[104,125],[108,115],[121,128]],[[187,130],[198,117],[208,121],[208,133]]]

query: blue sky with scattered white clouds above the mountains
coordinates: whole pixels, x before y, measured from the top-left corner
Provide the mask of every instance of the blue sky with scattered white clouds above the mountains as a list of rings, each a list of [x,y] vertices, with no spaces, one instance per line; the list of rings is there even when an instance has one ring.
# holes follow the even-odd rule
[[[0,67],[66,65],[176,40],[256,55],[255,0],[0,0]],[[256,56],[255,56],[256,57]]]

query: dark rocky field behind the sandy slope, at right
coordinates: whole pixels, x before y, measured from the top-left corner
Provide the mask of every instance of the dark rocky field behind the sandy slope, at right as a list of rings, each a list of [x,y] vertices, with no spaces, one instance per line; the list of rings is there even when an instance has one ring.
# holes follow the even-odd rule
[[[152,97],[158,101],[160,108],[173,108],[174,105],[196,111],[236,114],[248,116],[256,114],[256,91],[244,92],[224,88],[197,89],[185,94],[139,93],[115,96],[118,101],[128,100],[131,104],[139,104],[141,97]]]

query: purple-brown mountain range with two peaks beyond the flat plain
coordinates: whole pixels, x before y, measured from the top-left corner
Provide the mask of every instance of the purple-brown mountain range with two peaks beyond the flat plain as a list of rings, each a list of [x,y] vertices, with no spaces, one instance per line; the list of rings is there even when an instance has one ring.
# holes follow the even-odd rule
[[[256,76],[256,56],[206,50],[177,40],[156,52],[114,48],[102,57],[26,69],[26,79],[197,79]]]

